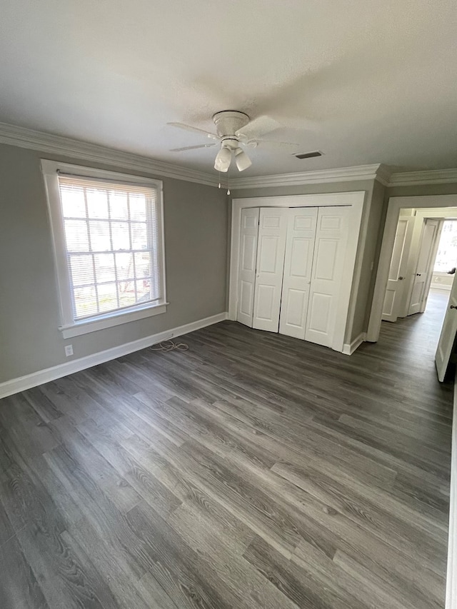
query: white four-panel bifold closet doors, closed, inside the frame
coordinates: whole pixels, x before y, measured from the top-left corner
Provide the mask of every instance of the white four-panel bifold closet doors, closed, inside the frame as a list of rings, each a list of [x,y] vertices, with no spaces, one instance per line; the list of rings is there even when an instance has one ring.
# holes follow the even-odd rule
[[[237,320],[333,346],[344,333],[341,289],[347,249],[348,206],[257,207],[241,210]],[[348,256],[353,259],[348,260]],[[346,286],[345,293],[348,293]],[[343,301],[348,298],[343,298]],[[343,311],[344,313],[344,311]]]

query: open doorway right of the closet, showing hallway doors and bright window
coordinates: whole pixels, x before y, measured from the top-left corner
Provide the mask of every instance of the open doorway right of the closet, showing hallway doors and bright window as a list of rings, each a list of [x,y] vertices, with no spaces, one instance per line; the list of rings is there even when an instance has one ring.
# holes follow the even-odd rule
[[[394,323],[427,311],[442,318],[456,266],[457,208],[401,209],[382,320]]]

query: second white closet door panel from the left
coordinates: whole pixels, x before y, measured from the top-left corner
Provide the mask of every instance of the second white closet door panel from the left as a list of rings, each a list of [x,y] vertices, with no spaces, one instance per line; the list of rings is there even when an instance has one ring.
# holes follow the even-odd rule
[[[261,208],[258,221],[253,328],[277,332],[281,308],[288,208]]]

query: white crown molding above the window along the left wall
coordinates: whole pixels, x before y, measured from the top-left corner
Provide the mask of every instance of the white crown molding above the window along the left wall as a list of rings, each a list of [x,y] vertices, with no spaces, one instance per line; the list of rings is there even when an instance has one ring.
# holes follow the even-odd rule
[[[47,134],[34,129],[26,129],[0,123],[0,144],[10,144],[40,152],[61,154],[71,158],[82,158],[84,161],[114,165],[134,171],[146,171],[157,177],[175,178],[187,182],[218,186],[217,176],[204,171],[196,171],[171,163],[154,161],[147,156],[121,152],[98,144],[89,144],[76,139]]]

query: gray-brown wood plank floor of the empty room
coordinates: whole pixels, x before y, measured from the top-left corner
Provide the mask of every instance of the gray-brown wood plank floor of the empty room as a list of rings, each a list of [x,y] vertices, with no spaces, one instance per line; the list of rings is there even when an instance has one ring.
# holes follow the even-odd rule
[[[0,401],[0,607],[443,608],[446,304],[353,356],[226,321]]]

